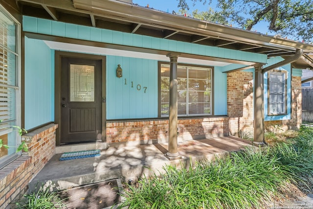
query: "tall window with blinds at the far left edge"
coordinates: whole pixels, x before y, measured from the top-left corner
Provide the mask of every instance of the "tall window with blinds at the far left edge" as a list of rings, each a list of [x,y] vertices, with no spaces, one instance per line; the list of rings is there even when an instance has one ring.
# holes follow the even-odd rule
[[[9,149],[0,149],[0,167],[16,156],[17,133],[12,126],[19,125],[17,105],[17,22],[0,7],[0,139]]]

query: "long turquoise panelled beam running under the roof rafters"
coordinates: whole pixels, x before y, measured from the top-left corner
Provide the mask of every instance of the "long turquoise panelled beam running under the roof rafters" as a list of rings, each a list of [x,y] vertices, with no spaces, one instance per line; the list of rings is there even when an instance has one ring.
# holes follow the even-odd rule
[[[132,33],[97,29],[71,23],[57,23],[51,20],[28,16],[23,16],[23,31],[88,41],[99,41],[116,45],[152,48],[248,62],[267,63],[267,56],[263,54],[213,46],[202,46],[198,44],[153,38]]]

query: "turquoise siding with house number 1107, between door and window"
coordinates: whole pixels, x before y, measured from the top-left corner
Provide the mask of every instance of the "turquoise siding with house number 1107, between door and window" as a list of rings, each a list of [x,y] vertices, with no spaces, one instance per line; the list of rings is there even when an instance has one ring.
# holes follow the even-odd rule
[[[116,77],[118,64],[121,78]],[[107,119],[157,117],[156,60],[107,56],[106,86]]]

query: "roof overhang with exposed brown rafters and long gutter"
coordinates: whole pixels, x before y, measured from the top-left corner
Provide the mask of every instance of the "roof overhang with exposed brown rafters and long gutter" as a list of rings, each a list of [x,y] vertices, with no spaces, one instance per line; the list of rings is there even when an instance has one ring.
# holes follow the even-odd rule
[[[268,36],[230,26],[173,15],[116,0],[17,0],[21,13],[65,23],[75,23],[156,38],[196,43],[268,57],[289,57],[296,48],[304,56],[295,68],[313,69],[313,46],[279,36]]]

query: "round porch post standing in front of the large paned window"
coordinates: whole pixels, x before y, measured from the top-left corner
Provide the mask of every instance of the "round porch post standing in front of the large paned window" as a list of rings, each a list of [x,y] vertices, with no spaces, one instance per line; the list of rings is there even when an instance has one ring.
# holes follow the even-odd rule
[[[170,58],[170,106],[169,106],[169,127],[168,127],[168,152],[166,156],[169,160],[176,160],[179,157],[177,149],[177,59],[178,53],[169,53],[166,55]]]

